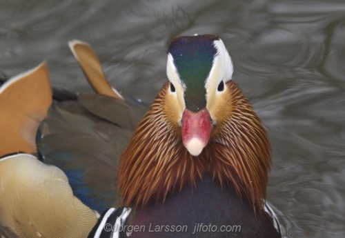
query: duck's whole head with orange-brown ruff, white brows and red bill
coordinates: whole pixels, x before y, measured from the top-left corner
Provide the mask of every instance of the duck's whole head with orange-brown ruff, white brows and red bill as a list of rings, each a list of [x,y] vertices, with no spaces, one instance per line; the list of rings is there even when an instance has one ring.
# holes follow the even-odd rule
[[[178,37],[168,48],[168,80],[121,157],[126,206],[144,206],[195,184],[205,173],[262,209],[270,168],[266,131],[232,79],[217,36]]]

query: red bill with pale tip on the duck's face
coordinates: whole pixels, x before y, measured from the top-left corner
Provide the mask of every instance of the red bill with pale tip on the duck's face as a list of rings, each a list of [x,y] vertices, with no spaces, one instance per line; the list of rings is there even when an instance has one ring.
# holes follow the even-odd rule
[[[206,108],[199,112],[184,110],[182,115],[182,142],[190,155],[198,156],[210,140],[212,120]]]

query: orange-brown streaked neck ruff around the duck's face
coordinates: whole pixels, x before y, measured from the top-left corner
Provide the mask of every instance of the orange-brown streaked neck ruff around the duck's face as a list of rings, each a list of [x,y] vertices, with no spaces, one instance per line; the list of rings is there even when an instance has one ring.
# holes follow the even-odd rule
[[[270,144],[259,117],[236,83],[228,81],[232,101],[224,105],[225,122],[213,128],[210,142],[193,157],[181,141],[180,128],[168,120],[166,83],[139,123],[121,157],[119,190],[126,206],[166,199],[209,172],[222,186],[234,188],[254,210],[262,210],[270,168]]]

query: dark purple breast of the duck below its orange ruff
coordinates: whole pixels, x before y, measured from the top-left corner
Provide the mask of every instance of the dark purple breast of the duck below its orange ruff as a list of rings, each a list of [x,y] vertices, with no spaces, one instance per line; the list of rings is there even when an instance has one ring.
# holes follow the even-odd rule
[[[246,199],[239,199],[234,189],[221,188],[209,174],[199,179],[195,187],[185,186],[181,192],[168,195],[164,204],[160,201],[137,208],[133,225],[145,227],[145,231],[133,232],[133,238],[279,237],[266,212],[255,217]],[[212,231],[209,225],[217,231]],[[161,231],[155,231],[156,226]],[[185,229],[181,230],[181,226]],[[221,232],[226,226],[231,231]]]

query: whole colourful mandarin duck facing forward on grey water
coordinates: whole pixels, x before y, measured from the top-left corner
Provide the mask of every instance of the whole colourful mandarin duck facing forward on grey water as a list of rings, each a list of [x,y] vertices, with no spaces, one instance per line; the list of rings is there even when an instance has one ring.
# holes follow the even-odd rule
[[[17,123],[31,128],[15,130],[30,150],[1,151],[37,151],[0,160],[3,235],[281,237],[265,201],[268,136],[219,37],[173,39],[168,81],[149,107],[109,86],[88,44],[70,48],[98,94],[51,91],[44,63],[28,74],[37,83],[21,76],[54,100]],[[37,111],[43,121],[28,116]]]

